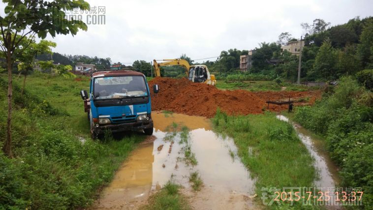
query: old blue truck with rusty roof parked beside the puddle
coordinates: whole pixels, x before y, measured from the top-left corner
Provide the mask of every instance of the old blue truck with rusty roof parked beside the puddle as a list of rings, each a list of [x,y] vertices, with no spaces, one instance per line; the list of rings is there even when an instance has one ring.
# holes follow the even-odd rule
[[[153,92],[158,92],[158,85]],[[95,71],[90,92],[80,91],[92,138],[106,131],[144,130],[153,134],[151,93],[144,74],[131,70]]]

